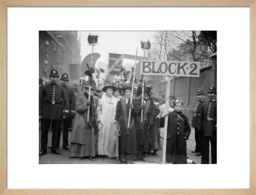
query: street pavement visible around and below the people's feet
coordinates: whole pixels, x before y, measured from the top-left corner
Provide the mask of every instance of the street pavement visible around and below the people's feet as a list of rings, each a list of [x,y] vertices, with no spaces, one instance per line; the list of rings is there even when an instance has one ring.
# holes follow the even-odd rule
[[[71,131],[69,131],[69,140]],[[163,129],[160,130],[160,136],[163,137]],[[52,139],[52,131],[49,130],[48,134],[48,145],[51,145]],[[39,129],[39,149],[41,147],[41,129]],[[161,139],[161,147],[163,147],[163,140]],[[187,140],[187,157],[188,164],[200,164],[201,156],[196,156],[191,151],[195,150],[196,142],[195,142],[195,130],[191,128],[191,134],[189,139]],[[115,164],[115,158],[107,158],[107,157],[95,157],[95,161],[91,161],[88,158],[69,158],[68,150],[62,148],[62,133],[60,138],[60,148],[61,155],[56,155],[51,153],[51,149],[47,149],[47,154],[43,156],[39,156],[39,164]],[[39,150],[38,150],[39,151]],[[135,161],[134,164],[162,164],[163,159],[163,150],[157,151],[157,155],[148,155],[146,157],[147,162]]]

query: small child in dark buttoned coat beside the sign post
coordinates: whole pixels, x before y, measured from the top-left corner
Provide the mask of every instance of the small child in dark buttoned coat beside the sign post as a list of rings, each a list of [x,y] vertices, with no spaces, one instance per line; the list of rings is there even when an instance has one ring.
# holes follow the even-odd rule
[[[190,134],[188,118],[183,114],[183,101],[175,99],[174,111],[164,112],[161,126],[164,126],[164,116],[168,115],[166,162],[173,164],[187,164],[187,140]]]

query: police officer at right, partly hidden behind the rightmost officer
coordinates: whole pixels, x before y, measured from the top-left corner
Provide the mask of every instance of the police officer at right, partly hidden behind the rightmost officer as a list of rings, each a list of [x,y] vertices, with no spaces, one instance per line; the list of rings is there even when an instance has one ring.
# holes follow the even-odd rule
[[[201,150],[202,150],[202,131],[198,131],[198,123],[199,123],[202,105],[205,103],[204,92],[202,91],[202,89],[199,89],[199,88],[197,89],[196,98],[198,101],[197,101],[195,112],[192,118],[192,126],[195,128],[196,148],[192,152],[196,153],[196,156],[200,156]]]

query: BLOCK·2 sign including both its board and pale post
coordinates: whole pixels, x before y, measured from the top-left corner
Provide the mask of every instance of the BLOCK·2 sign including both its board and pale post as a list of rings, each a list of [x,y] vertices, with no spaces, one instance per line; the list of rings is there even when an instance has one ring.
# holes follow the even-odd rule
[[[140,74],[168,76],[165,94],[165,111],[169,110],[169,96],[171,85],[170,76],[199,77],[200,73],[199,62],[141,60],[140,67]],[[165,116],[164,121],[163,164],[165,164],[166,161],[167,125],[168,115]]]

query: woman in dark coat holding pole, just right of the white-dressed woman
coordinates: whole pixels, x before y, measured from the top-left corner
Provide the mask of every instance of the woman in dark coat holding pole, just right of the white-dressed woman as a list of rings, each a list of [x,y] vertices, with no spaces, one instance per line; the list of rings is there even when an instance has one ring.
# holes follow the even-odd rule
[[[132,86],[130,84],[124,84],[122,90],[124,91],[125,98],[120,99],[116,107],[115,121],[121,125],[121,135],[119,136],[119,160],[117,161],[117,164],[132,164],[132,159],[135,159],[137,156],[135,117],[139,114],[138,111],[140,107],[137,101],[133,101],[132,104],[130,104],[131,89]],[[130,128],[127,128],[130,107]]]

